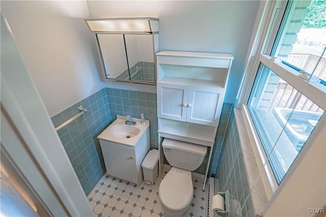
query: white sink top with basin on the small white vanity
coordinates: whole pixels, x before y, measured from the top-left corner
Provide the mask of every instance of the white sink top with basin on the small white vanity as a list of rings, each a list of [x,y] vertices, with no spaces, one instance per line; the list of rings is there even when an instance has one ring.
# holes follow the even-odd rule
[[[149,121],[146,120],[145,126],[137,118],[132,118],[137,123],[133,126],[126,125],[125,121],[126,117],[117,115],[117,120],[99,134],[97,139],[134,147],[149,128]]]

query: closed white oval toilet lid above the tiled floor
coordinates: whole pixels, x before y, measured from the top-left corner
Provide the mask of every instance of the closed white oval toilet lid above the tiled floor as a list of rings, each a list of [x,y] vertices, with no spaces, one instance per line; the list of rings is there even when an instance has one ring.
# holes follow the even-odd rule
[[[172,211],[184,209],[194,197],[191,176],[170,171],[161,181],[158,195],[161,203],[166,208]]]

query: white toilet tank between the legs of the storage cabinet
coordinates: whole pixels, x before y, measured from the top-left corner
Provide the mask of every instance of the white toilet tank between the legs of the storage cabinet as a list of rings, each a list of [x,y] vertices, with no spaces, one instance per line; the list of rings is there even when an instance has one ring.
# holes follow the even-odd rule
[[[163,140],[162,147],[171,166],[189,171],[199,168],[207,153],[206,146],[167,138]]]

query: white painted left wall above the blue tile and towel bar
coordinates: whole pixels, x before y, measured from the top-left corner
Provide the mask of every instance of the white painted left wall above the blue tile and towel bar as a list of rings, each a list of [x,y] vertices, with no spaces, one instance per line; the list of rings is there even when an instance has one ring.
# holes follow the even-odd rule
[[[104,87],[86,1],[1,1],[1,10],[50,116]]]

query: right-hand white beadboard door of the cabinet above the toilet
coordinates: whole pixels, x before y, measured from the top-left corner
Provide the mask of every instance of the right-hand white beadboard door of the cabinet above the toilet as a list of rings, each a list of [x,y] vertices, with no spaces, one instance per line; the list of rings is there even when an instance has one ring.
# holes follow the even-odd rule
[[[187,122],[218,126],[223,106],[224,89],[193,87],[189,90]]]

